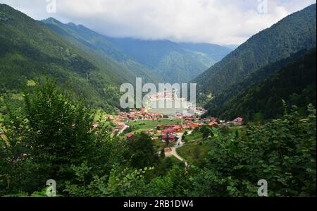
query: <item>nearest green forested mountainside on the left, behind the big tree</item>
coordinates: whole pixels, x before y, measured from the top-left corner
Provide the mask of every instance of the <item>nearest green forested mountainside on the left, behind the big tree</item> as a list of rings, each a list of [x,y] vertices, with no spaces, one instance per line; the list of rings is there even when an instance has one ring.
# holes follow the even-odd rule
[[[119,85],[136,77],[113,59],[83,51],[44,23],[0,4],[1,92],[18,92],[21,83],[46,74],[106,111],[119,107]]]

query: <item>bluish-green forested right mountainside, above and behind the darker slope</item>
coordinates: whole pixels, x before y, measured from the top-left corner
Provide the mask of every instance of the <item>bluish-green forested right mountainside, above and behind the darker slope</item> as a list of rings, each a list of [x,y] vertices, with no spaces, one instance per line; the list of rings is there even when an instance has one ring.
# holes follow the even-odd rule
[[[271,28],[252,36],[235,51],[202,73],[197,83],[198,100],[207,102],[249,73],[316,46],[316,4],[283,18]],[[209,100],[206,100],[206,99]]]

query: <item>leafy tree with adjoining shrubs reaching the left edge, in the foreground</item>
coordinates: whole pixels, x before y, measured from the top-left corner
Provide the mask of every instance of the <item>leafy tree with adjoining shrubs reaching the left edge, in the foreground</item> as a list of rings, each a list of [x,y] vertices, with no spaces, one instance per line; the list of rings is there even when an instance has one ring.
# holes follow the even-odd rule
[[[56,82],[47,80],[25,91],[24,99],[23,112],[9,113],[8,145],[1,142],[1,154],[6,157],[1,159],[5,173],[1,185],[30,193],[48,179],[60,184],[71,179],[71,165],[87,161],[96,164],[92,172],[107,172],[121,159],[111,149],[120,150],[120,143],[113,142],[108,124],[92,130],[94,111],[74,102]]]

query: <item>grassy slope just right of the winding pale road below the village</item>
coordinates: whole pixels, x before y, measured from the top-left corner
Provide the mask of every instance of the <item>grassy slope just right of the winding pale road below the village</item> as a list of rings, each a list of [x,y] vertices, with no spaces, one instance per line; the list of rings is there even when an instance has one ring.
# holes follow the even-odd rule
[[[180,157],[184,158],[189,164],[197,164],[211,150],[210,145],[201,141],[187,143],[185,146],[176,150]]]

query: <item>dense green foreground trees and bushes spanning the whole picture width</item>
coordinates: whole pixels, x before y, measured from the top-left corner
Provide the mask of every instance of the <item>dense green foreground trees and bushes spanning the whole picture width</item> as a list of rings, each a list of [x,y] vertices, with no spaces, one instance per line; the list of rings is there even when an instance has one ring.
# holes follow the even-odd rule
[[[306,116],[284,104],[280,119],[245,134],[213,128],[211,150],[185,168],[154,150],[151,137],[113,136],[94,109],[47,79],[27,88],[23,109],[4,117],[0,195],[45,196],[55,179],[59,196],[256,196],[267,179],[270,196],[316,195],[316,109]]]

